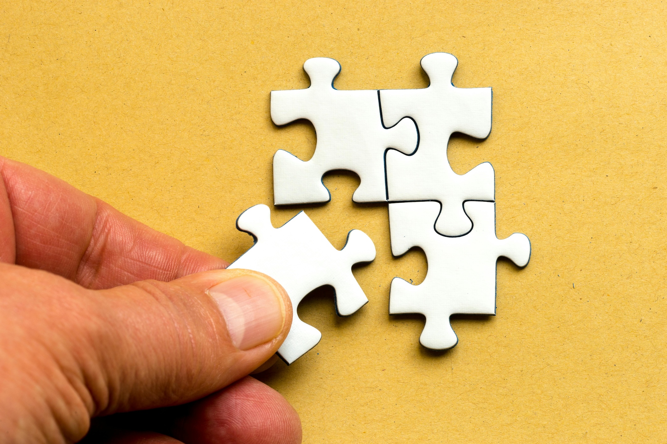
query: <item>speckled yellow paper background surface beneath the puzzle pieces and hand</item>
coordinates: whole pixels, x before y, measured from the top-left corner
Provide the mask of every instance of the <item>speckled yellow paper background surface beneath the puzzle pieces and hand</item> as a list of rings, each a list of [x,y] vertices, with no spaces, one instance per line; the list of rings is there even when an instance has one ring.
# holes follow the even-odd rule
[[[95,4],[97,3],[97,4]],[[0,5],[0,153],[149,226],[233,260],[245,208],[272,202],[271,157],[314,150],[277,128],[269,91],[307,87],[309,57],[339,89],[427,85],[420,58],[459,59],[458,87],[493,87],[487,140],[450,142],[454,170],[496,170],[498,237],[524,232],[527,268],[498,264],[498,316],[452,321],[459,344],[420,347],[419,316],[389,316],[386,206],[305,207],[337,248],[352,228],[378,258],[370,303],[337,318],[331,292],[299,314],[323,333],[260,378],[305,443],[639,443],[664,439],[667,160],[664,3],[28,1]],[[300,208],[273,212],[278,226]]]

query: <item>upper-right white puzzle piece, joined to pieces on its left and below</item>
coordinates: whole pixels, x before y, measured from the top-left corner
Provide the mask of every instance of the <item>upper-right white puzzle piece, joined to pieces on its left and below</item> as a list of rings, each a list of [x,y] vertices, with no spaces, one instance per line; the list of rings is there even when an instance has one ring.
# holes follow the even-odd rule
[[[461,236],[472,228],[463,202],[494,200],[494,168],[484,162],[466,174],[456,174],[447,159],[447,144],[453,132],[488,136],[492,91],[454,87],[452,75],[458,61],[451,54],[432,53],[424,56],[421,64],[430,79],[428,87],[380,90],[384,123],[390,125],[410,116],[417,122],[420,138],[410,156],[387,152],[389,200],[438,200],[442,213],[436,230],[445,236]]]

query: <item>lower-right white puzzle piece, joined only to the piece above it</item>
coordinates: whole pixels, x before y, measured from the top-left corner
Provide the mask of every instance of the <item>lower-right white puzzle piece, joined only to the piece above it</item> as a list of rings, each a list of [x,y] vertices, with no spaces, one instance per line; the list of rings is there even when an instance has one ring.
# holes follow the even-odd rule
[[[504,256],[519,267],[530,260],[530,240],[514,233],[496,238],[496,204],[464,204],[474,224],[466,236],[448,238],[434,230],[438,202],[389,204],[392,254],[400,256],[418,246],[426,253],[424,282],[412,285],[392,280],[390,314],[421,313],[426,325],[420,343],[448,349],[458,342],[450,325],[452,314],[496,314],[496,261]]]

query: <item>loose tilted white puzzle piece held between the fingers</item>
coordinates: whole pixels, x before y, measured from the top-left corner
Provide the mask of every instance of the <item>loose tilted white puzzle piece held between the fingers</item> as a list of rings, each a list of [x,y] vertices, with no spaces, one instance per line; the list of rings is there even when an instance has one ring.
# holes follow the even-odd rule
[[[320,286],[332,286],[340,316],[350,316],[368,302],[352,275],[354,264],[370,262],[376,256],[373,241],[364,232],[352,230],[345,247],[336,250],[303,211],[280,228],[273,228],[271,210],[266,205],[248,208],[236,225],[255,238],[255,245],[228,268],[245,268],[271,276],[291,300],[291,330],[278,349],[287,364],[315,347],[321,338],[316,328],[297,316],[297,307],[305,295]]]

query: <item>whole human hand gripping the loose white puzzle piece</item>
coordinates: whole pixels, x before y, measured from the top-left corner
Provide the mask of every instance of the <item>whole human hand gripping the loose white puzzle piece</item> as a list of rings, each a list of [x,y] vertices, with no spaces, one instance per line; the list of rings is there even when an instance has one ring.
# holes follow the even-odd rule
[[[275,281],[31,166],[0,157],[0,176],[0,442],[76,442],[107,415],[86,441],[301,441],[246,376],[289,331]]]

